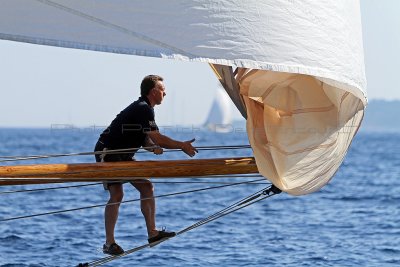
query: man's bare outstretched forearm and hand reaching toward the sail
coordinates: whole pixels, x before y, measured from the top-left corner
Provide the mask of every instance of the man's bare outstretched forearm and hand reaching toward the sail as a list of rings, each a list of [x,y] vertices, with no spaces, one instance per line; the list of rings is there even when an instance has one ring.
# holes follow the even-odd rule
[[[177,141],[166,135],[161,134],[159,131],[150,131],[147,132],[147,135],[153,140],[154,143],[169,149],[182,149],[190,157],[193,157],[198,152],[195,147],[192,146],[192,143],[195,141],[193,138],[189,141]]]

